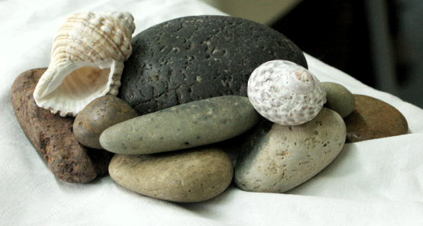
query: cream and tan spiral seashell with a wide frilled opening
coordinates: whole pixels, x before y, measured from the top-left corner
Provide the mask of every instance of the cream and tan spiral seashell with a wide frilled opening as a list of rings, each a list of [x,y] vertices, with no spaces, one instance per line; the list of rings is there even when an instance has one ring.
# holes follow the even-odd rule
[[[92,100],[117,95],[134,30],[128,12],[70,16],[54,38],[50,65],[34,90],[37,105],[75,116]]]

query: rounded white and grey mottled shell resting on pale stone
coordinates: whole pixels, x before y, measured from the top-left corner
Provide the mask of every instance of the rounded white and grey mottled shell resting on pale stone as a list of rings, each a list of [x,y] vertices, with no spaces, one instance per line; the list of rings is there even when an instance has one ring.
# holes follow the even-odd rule
[[[260,115],[291,126],[312,120],[326,102],[316,76],[287,60],[271,60],[257,67],[248,80],[247,95]]]

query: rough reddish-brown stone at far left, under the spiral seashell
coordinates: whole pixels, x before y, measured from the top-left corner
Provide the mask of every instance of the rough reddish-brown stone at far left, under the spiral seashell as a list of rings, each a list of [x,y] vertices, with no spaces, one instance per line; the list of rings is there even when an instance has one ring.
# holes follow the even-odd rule
[[[14,113],[56,177],[72,183],[92,181],[107,173],[112,154],[79,144],[72,133],[74,117],[60,117],[35,104],[32,93],[44,71],[25,71],[14,80],[11,90]]]

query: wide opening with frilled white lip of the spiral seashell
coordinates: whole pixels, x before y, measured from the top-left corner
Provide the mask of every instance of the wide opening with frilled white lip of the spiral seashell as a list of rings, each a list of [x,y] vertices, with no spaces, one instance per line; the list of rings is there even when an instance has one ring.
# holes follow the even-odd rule
[[[99,63],[69,63],[60,70],[49,71],[49,67],[43,75],[45,81],[37,84],[34,100],[52,113],[75,116],[92,100],[108,93],[117,94],[123,65],[116,63],[109,59]],[[119,78],[114,78],[116,75]]]

